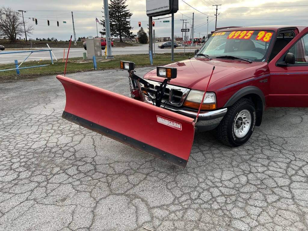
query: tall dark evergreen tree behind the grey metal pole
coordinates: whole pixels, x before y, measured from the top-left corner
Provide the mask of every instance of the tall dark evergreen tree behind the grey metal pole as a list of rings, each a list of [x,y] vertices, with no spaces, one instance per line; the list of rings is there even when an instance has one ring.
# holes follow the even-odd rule
[[[108,4],[109,8],[109,21],[110,21],[110,34],[111,36],[119,37],[120,42],[122,38],[133,38],[134,34],[131,32],[130,18],[132,13],[127,9],[128,5],[125,5],[126,0],[111,0]],[[104,11],[102,11],[104,13]],[[104,18],[104,17],[103,17]],[[105,20],[100,20],[103,26],[103,30],[99,31],[101,35],[106,35]]]

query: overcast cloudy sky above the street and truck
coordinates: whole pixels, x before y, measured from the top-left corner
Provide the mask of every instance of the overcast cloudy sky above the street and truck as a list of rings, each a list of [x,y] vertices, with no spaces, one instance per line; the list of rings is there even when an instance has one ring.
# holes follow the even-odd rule
[[[213,4],[221,4],[218,7],[217,27],[224,26],[257,26],[257,25],[305,25],[308,26],[308,2],[307,0],[184,0],[189,5],[179,0],[179,11],[175,14],[175,35],[181,36],[180,29],[182,21],[187,19],[187,27],[192,25],[192,16],[195,12],[195,34],[194,37],[203,36],[207,32],[206,15],[209,17],[209,32],[215,29],[214,14],[216,7]],[[51,38],[58,40],[69,40],[73,34],[71,11],[74,14],[76,37],[96,36],[95,17],[102,19],[100,12],[103,1],[93,0],[14,0],[1,1],[0,6],[11,7],[14,10],[26,10],[24,13],[25,21],[34,25],[34,31],[30,38]],[[146,16],[145,0],[127,0],[128,9],[133,13],[131,26],[136,34],[140,29],[138,22],[147,30],[148,17]],[[167,15],[168,16],[168,15]],[[164,16],[166,17],[166,16]],[[28,19],[30,18],[30,19]],[[32,18],[38,19],[38,25],[32,21]],[[157,17],[156,17],[157,18]],[[47,26],[47,19],[50,20],[50,26]],[[57,22],[60,26],[57,27]],[[171,36],[171,18],[170,23],[164,23],[163,20],[155,20],[156,36]],[[64,24],[63,21],[67,23]],[[101,25],[98,24],[101,29]]]

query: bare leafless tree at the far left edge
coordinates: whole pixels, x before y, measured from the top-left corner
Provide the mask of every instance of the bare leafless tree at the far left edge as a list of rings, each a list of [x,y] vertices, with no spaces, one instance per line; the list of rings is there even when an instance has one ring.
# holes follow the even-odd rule
[[[26,33],[32,34],[32,25],[26,25]],[[0,36],[8,37],[15,41],[17,36],[24,34],[21,15],[10,7],[0,8]]]

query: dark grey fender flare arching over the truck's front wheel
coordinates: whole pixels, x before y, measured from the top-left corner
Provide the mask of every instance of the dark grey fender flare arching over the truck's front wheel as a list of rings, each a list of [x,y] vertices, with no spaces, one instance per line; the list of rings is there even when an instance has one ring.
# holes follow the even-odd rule
[[[255,94],[258,95],[262,101],[262,106],[258,106],[257,107],[257,124],[256,126],[260,126],[261,125],[261,121],[262,121],[262,114],[263,111],[265,109],[265,96],[263,94],[263,92],[260,90],[260,88],[255,87],[255,86],[247,86],[247,87],[243,87],[240,90],[238,90],[237,92],[235,92],[230,99],[225,103],[224,107],[230,107],[232,106],[237,100],[243,98],[245,95],[250,95],[250,94]]]

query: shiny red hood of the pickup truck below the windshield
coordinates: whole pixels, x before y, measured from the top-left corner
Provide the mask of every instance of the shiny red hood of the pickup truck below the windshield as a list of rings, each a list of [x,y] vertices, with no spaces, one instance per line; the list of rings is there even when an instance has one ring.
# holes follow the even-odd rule
[[[203,58],[186,59],[180,62],[171,63],[165,67],[176,67],[177,77],[171,79],[169,84],[204,91],[209,77],[212,73],[213,66],[215,70],[211,79],[214,83],[227,75],[233,74],[243,69],[260,65],[261,62],[245,63],[237,60],[208,60]],[[243,79],[245,77],[243,76]],[[144,79],[162,82],[164,78],[157,77],[156,69],[144,75]],[[210,83],[210,84],[211,84]]]

